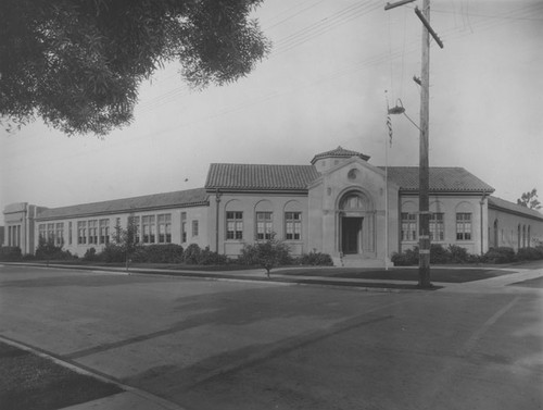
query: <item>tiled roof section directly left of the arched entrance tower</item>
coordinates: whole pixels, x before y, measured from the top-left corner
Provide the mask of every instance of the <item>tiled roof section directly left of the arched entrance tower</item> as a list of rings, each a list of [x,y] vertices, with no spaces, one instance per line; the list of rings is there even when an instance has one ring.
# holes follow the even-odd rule
[[[211,164],[205,189],[305,190],[319,177],[313,165]]]

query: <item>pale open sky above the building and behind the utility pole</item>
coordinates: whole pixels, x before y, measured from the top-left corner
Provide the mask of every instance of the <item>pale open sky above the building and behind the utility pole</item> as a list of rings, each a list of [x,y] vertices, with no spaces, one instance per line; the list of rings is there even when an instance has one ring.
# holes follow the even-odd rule
[[[265,0],[274,51],[244,79],[190,91],[175,66],[103,139],[36,122],[0,135],[0,208],[62,207],[202,187],[212,162],[308,164],[338,146],[384,164],[386,90],[419,123],[421,23],[381,0]],[[394,1],[391,1],[394,2]],[[463,166],[516,201],[543,198],[543,1],[433,0],[430,165]],[[418,165],[418,129],[393,117],[390,165]]]

